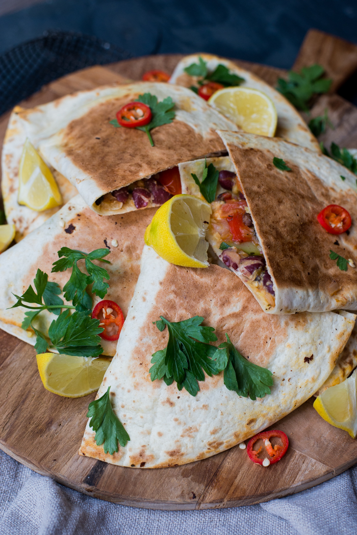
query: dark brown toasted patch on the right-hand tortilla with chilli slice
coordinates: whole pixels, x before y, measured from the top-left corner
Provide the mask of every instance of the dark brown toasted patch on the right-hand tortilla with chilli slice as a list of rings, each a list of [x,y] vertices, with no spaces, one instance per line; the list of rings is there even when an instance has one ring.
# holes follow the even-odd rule
[[[348,244],[344,250],[333,244],[336,236],[327,233],[316,219],[326,205],[339,204],[355,221],[355,192],[327,187],[312,172],[299,169],[287,160],[291,172],[270,167],[274,154],[269,150],[232,144],[229,150],[276,285],[328,293],[334,279],[345,291],[356,287],[357,270],[341,271],[329,258],[331,249],[357,262],[355,224],[352,223],[350,235],[343,234]],[[274,210],[267,204],[268,198],[274,199]],[[278,254],[279,251],[284,253]]]

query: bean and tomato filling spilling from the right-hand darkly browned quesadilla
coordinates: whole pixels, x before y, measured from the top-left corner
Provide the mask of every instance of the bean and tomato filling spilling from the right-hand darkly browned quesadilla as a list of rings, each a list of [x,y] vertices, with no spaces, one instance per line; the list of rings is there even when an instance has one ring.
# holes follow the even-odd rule
[[[209,231],[217,248],[223,249],[219,258],[244,280],[267,308],[275,307],[273,283],[236,174],[220,171],[218,180],[225,191],[211,203]]]

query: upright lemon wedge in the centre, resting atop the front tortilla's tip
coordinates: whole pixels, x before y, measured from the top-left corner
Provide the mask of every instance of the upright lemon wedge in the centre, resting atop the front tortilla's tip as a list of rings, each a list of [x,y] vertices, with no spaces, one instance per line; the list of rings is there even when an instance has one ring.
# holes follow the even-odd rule
[[[205,239],[210,205],[193,195],[175,195],[155,213],[145,232],[145,243],[171,264],[207,268]]]

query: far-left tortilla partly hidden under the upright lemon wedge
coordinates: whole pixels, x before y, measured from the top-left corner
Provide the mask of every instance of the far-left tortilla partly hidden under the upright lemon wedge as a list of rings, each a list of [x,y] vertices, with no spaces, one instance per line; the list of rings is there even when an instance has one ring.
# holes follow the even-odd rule
[[[9,124],[5,133],[2,152],[2,195],[7,223],[15,225],[15,240],[20,241],[26,234],[47,221],[60,207],[50,208],[43,212],[36,212],[27,206],[18,204],[19,193],[19,165],[26,141],[26,132],[23,121],[19,119],[19,113],[24,108],[16,106],[10,116]],[[62,174],[50,166],[58,188],[62,195],[63,204],[78,194],[77,189]]]

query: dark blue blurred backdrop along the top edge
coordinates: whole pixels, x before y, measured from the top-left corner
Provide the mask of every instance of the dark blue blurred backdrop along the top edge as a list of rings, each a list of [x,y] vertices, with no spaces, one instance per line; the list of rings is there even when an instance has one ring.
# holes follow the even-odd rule
[[[357,42],[356,0],[45,0],[0,17],[0,53],[60,29],[134,56],[207,51],[288,68],[309,28]]]

